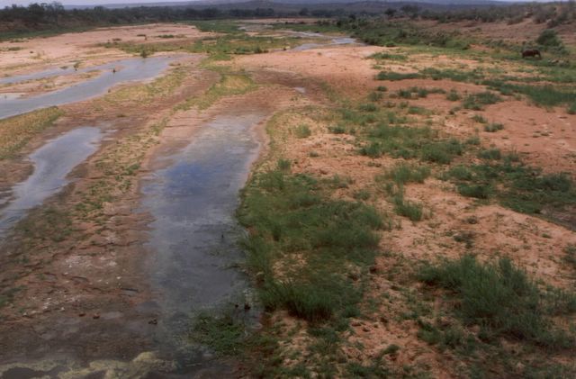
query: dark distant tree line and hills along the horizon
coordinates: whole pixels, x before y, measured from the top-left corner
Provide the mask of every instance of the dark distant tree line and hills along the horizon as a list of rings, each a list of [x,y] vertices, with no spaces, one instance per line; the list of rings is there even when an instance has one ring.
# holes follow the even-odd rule
[[[374,5],[374,3],[366,3]],[[366,6],[367,6],[366,5]],[[499,6],[440,6],[416,3],[386,3],[381,8],[351,11],[343,5],[340,8],[295,7],[271,4],[270,8],[235,8],[234,5],[221,6],[139,6],[126,8],[104,8],[96,6],[85,9],[65,9],[59,3],[12,5],[0,9],[0,32],[35,32],[45,30],[120,25],[130,23],[177,22],[185,20],[213,20],[224,18],[255,17],[319,17],[341,18],[379,15],[385,19],[410,18],[437,20],[439,23],[455,21],[476,21],[491,23],[507,21],[520,23],[533,19],[536,23],[547,23],[549,27],[576,20],[574,0],[558,3],[529,3]],[[1,36],[0,36],[1,37]]]

